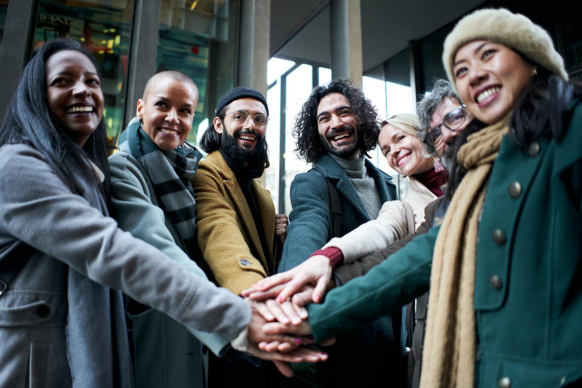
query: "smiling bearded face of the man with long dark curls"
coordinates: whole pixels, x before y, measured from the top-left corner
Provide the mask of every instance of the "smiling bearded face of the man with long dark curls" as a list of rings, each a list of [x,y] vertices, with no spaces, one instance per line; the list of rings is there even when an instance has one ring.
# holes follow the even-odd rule
[[[317,129],[330,154],[350,158],[359,150],[356,115],[345,95],[331,93],[317,106]]]

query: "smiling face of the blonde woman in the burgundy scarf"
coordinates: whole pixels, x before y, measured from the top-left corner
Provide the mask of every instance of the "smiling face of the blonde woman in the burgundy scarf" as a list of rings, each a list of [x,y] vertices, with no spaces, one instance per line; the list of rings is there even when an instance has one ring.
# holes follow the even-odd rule
[[[400,175],[425,172],[434,166],[432,158],[424,158],[419,138],[390,124],[385,124],[378,136],[378,145],[388,165]]]

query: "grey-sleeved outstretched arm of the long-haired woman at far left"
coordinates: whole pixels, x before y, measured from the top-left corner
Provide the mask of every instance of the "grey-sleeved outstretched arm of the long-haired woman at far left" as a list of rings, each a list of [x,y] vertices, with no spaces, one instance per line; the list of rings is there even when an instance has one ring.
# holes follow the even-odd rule
[[[231,340],[248,325],[250,309],[243,300],[123,232],[115,220],[74,194],[36,149],[5,145],[0,151],[2,234],[189,328]]]

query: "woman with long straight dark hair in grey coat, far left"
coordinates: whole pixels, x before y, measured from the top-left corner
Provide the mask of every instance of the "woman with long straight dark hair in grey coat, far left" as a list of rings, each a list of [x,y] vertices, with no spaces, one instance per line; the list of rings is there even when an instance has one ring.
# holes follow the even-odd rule
[[[103,99],[91,54],[56,39],[27,64],[0,127],[2,386],[132,387],[120,291],[187,328],[260,340],[265,321],[243,300],[107,216]]]

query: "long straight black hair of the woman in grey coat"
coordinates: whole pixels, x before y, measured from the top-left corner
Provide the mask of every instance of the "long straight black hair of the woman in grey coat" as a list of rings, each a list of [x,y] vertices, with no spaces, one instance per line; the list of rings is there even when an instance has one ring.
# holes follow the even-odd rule
[[[79,51],[95,65],[95,59],[87,48],[72,39],[57,38],[42,45],[24,67],[10,100],[0,126],[0,147],[10,143],[31,145],[45,156],[71,190],[76,190],[75,179],[83,179],[98,186],[109,204],[110,180],[104,120],[101,119],[81,149],[67,136],[63,123],[53,118],[48,109],[46,63],[51,55],[63,50]],[[95,176],[87,157],[105,175],[104,183],[101,184]]]

